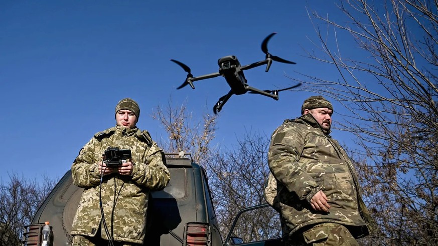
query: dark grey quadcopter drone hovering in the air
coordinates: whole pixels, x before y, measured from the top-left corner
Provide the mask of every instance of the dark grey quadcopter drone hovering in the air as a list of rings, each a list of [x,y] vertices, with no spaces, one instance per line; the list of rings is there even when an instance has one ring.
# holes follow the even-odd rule
[[[280,89],[280,90],[263,90],[262,91],[262,90],[259,90],[259,89],[256,89],[256,88],[249,86],[247,84],[247,80],[245,79],[245,75],[243,74],[244,70],[255,68],[255,67],[258,67],[258,66],[261,66],[264,64],[266,64],[265,72],[268,72],[269,68],[272,64],[272,61],[287,63],[287,64],[296,64],[295,62],[290,62],[290,61],[284,60],[282,58],[279,58],[277,56],[272,56],[271,54],[268,53],[267,43],[268,43],[269,39],[272,38],[272,36],[274,36],[275,34],[276,33],[271,33],[261,43],[261,50],[263,51],[264,54],[266,54],[266,57],[263,61],[259,61],[259,62],[248,64],[245,66],[241,66],[240,62],[239,62],[239,60],[237,60],[236,56],[222,57],[217,62],[217,64],[219,65],[219,72],[217,72],[217,73],[193,77],[191,70],[187,65],[185,65],[182,62],[179,62],[177,60],[172,59],[171,60],[172,62],[180,65],[184,69],[184,71],[187,72],[186,80],[177,89],[181,89],[187,85],[190,85],[190,87],[192,87],[192,89],[195,89],[195,86],[193,85],[193,82],[195,82],[195,81],[215,78],[215,77],[218,77],[220,75],[223,76],[225,78],[225,80],[227,81],[228,85],[230,86],[231,90],[226,95],[219,98],[217,103],[214,105],[213,112],[215,114],[217,114],[217,112],[221,111],[224,104],[228,101],[228,99],[230,99],[230,97],[233,94],[234,95],[242,95],[242,94],[249,92],[249,93],[260,94],[260,95],[278,100],[278,92],[299,87],[301,85],[301,83],[294,85],[294,86],[291,86],[291,87]]]

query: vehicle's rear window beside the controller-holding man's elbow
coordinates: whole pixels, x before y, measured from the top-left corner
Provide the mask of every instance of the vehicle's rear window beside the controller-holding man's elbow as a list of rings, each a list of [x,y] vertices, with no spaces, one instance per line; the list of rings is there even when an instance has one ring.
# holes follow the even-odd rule
[[[187,197],[187,168],[169,168],[171,179],[163,190],[153,191],[154,198],[174,198],[183,200]]]

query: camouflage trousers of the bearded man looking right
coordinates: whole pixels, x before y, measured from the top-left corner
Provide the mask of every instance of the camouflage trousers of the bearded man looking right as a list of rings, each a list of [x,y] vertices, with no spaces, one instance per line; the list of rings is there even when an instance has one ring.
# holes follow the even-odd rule
[[[342,224],[321,223],[296,232],[285,238],[286,246],[337,246],[354,245],[359,243],[351,235],[350,231]]]

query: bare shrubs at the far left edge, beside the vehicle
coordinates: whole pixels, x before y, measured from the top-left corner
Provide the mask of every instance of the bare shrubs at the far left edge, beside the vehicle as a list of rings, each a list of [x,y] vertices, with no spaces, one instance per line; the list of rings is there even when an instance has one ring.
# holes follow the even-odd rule
[[[24,225],[31,223],[54,185],[55,179],[47,176],[38,182],[17,174],[0,182],[0,244],[21,245]]]

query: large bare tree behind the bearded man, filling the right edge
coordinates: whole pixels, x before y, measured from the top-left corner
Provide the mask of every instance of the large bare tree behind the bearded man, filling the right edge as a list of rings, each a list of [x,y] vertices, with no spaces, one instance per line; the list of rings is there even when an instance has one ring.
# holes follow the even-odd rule
[[[380,226],[361,242],[436,245],[438,2],[338,3],[343,15],[309,14],[320,49],[308,55],[332,66],[339,79],[292,79],[349,110],[337,123],[357,136],[349,151]],[[351,44],[356,50],[347,53]]]

